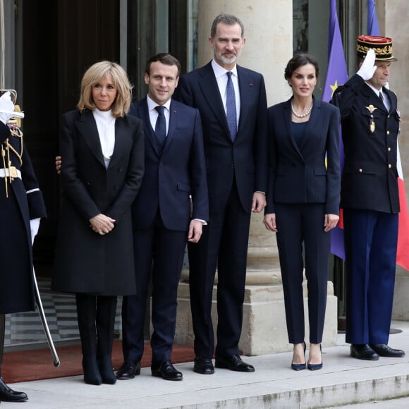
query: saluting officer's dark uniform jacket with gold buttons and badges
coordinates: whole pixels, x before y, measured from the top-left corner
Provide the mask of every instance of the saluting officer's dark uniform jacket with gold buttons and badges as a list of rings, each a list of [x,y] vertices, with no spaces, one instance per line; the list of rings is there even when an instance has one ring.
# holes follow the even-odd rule
[[[397,137],[400,114],[396,95],[386,111],[377,94],[360,75],[336,89],[332,104],[341,111],[345,163],[341,179],[341,207],[399,212]]]

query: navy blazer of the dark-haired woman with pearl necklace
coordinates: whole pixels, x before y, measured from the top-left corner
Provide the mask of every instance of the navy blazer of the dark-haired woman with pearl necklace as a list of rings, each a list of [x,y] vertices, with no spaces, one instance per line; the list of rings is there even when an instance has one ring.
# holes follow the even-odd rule
[[[300,146],[291,127],[291,99],[271,106],[268,114],[271,167],[264,212],[274,213],[275,202],[324,203],[325,214],[338,214],[339,110],[314,98]]]

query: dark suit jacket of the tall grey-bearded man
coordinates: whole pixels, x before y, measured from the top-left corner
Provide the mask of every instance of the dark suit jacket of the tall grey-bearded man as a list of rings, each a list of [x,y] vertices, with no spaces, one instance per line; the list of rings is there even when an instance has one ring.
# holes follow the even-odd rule
[[[217,211],[230,194],[233,178],[245,212],[255,191],[266,192],[268,176],[267,98],[260,73],[237,66],[240,119],[233,143],[212,63],[182,75],[175,98],[199,109],[206,156],[209,207]]]

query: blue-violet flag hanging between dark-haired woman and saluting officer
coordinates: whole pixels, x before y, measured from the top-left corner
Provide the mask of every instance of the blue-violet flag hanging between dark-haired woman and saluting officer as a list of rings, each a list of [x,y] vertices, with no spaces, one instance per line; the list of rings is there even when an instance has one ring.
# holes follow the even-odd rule
[[[326,71],[325,85],[322,92],[322,100],[329,102],[332,94],[338,87],[348,81],[345,55],[339,30],[338,16],[336,14],[336,0],[331,0],[329,9],[329,36],[328,36],[328,70]],[[341,171],[343,169],[343,143],[340,132],[339,156]],[[338,226],[331,230],[331,253],[345,260],[345,248],[343,245],[343,219],[340,212]]]

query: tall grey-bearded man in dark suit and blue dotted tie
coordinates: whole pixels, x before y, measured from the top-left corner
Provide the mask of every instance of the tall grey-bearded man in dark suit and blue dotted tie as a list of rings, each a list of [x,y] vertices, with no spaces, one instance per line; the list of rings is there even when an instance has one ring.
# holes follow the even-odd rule
[[[194,371],[214,373],[212,292],[216,268],[216,367],[254,372],[238,350],[251,212],[267,190],[267,99],[260,73],[236,65],[245,44],[243,23],[221,14],[209,37],[214,59],[183,75],[175,98],[199,109],[209,188],[208,226],[188,244],[190,303],[195,332]]]

